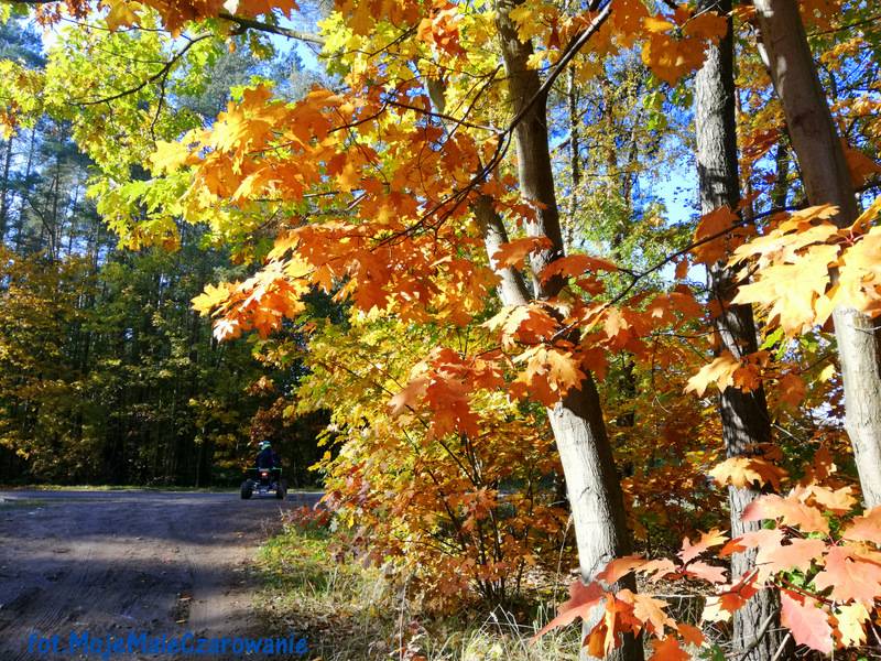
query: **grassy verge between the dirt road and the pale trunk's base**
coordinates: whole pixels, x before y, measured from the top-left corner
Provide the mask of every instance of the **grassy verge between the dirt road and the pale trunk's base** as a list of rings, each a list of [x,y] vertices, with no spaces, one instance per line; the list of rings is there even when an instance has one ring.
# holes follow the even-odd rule
[[[550,619],[519,625],[497,608],[449,617],[420,613],[381,570],[337,562],[325,529],[286,525],[259,555],[264,587],[257,599],[271,630],[305,636],[309,657],[323,661],[569,661],[578,658],[579,630],[529,638]]]

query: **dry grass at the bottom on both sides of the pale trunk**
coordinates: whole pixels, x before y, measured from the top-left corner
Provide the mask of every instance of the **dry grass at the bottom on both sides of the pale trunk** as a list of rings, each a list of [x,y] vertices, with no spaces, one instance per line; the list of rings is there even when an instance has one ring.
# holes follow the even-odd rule
[[[426,615],[411,599],[417,578],[367,567],[346,556],[334,557],[337,541],[329,517],[305,508],[291,517],[282,534],[261,549],[259,568],[265,582],[258,600],[273,635],[305,636],[309,658],[322,661],[575,661],[580,627],[551,631],[537,641],[535,632],[567,598],[575,574],[561,567],[554,574],[529,577],[532,600],[518,616],[501,607],[471,607],[445,617]],[[338,545],[338,544],[336,544]],[[640,584],[667,604],[677,621],[698,624],[706,589],[683,583]],[[685,592],[683,592],[685,590]],[[554,602],[557,599],[557,602]],[[708,644],[693,658],[726,659],[730,630],[705,629]],[[646,650],[646,658],[651,650]]]

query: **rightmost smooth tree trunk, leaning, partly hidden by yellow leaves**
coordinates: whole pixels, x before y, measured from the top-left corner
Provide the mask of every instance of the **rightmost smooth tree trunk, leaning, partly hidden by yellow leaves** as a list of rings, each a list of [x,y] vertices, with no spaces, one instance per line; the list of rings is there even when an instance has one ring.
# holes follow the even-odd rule
[[[795,0],[755,0],[766,64],[783,105],[793,150],[812,205],[838,207],[847,227],[857,218],[853,182]],[[833,311],[841,378],[845,429],[853,446],[868,507],[881,505],[881,333],[857,310]]]

